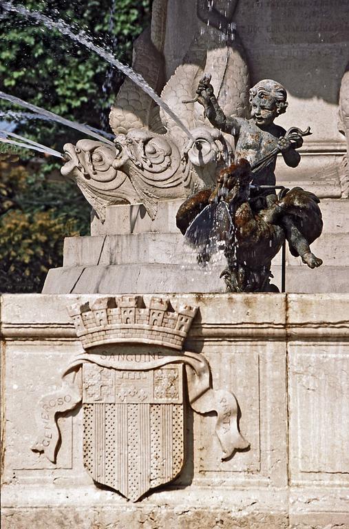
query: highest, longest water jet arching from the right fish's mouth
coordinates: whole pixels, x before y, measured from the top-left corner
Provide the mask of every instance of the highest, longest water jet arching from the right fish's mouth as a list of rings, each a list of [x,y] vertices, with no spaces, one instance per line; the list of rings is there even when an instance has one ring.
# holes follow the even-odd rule
[[[114,55],[110,52],[107,52],[103,50],[100,46],[96,45],[91,37],[89,37],[85,32],[81,31],[78,34],[75,34],[72,32],[69,25],[67,25],[63,20],[54,21],[50,19],[50,17],[47,17],[45,14],[39,12],[39,11],[30,11],[29,9],[25,8],[24,6],[17,5],[14,6],[10,1],[1,1],[0,6],[2,6],[3,9],[6,11],[14,11],[19,14],[22,14],[23,17],[31,18],[36,20],[37,22],[42,22],[47,28],[50,28],[51,30],[58,30],[61,34],[67,35],[72,39],[73,41],[76,41],[78,43],[81,43],[86,46],[89,50],[92,50],[96,52],[99,56],[101,56],[105,61],[109,62],[118,70],[123,72],[131,81],[134,81],[136,85],[138,85],[146,94],[148,94],[160,107],[162,107],[162,110],[166,112],[175,123],[177,123],[178,127],[182,129],[183,132],[193,140],[193,136],[187,129],[187,127],[180,121],[178,116],[174,114],[174,112],[170,109],[170,107],[165,103],[165,101],[162,101],[162,98],[154,92],[154,90],[151,88],[151,86],[145,81],[145,79],[142,78],[140,74],[136,74],[132,68],[129,66],[120,63],[118,59],[114,57]],[[0,92],[1,94],[1,92]],[[34,111],[35,112],[35,111]],[[91,135],[91,134],[90,134]],[[104,140],[105,141],[105,140]]]

